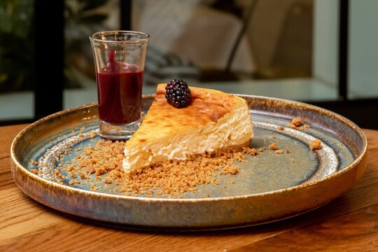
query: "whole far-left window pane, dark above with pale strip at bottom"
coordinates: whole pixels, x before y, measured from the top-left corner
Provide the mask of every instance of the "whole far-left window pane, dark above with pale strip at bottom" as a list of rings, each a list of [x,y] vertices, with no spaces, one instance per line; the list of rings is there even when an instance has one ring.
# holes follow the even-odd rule
[[[34,118],[34,1],[0,1],[0,120]]]

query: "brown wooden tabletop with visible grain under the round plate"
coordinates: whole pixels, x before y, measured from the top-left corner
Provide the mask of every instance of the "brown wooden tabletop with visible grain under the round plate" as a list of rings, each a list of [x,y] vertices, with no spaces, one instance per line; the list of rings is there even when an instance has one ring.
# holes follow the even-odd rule
[[[0,127],[0,251],[378,251],[377,130],[364,130],[363,177],[319,209],[237,230],[142,232],[74,219],[22,193],[10,174],[10,144],[26,126]]]

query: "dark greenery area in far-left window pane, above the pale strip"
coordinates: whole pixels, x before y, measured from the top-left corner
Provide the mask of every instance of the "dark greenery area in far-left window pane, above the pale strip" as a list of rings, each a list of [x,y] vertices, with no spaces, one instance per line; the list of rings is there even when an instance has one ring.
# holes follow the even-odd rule
[[[34,85],[34,1],[0,0],[0,92]]]

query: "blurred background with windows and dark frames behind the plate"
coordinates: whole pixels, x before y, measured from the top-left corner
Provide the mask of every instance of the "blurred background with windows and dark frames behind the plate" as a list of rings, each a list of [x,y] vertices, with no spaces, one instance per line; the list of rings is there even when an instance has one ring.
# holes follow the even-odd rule
[[[151,35],[144,94],[183,78],[378,129],[377,13],[377,0],[0,0],[0,125],[97,102],[89,36],[132,29]]]

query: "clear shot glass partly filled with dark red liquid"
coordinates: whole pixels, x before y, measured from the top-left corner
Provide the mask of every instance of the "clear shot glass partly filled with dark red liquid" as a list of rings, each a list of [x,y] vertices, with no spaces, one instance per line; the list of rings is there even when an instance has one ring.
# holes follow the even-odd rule
[[[130,139],[138,130],[149,39],[148,34],[139,31],[99,31],[90,36],[99,134],[105,139]]]

